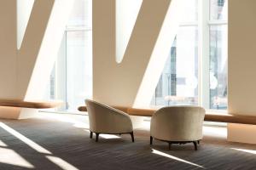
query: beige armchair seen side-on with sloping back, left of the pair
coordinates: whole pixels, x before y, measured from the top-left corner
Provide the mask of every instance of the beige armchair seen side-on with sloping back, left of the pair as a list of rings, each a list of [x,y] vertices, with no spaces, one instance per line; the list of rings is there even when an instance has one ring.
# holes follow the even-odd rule
[[[90,99],[85,99],[85,104],[89,115],[90,138],[93,137],[93,133],[96,133],[97,142],[100,133],[130,133],[131,140],[134,142],[131,118],[128,114]]]

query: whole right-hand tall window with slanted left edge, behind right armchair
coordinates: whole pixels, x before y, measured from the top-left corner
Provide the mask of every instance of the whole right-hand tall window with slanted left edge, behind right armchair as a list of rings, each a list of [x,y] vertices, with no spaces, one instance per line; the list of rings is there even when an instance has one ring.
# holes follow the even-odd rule
[[[187,1],[151,105],[227,108],[227,1]]]

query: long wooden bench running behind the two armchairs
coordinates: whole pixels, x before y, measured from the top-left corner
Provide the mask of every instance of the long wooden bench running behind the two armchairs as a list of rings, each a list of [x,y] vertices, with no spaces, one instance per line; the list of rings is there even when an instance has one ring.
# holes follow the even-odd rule
[[[152,116],[156,109],[138,109],[130,107],[113,106],[114,108],[124,111],[131,116]],[[79,111],[87,111],[86,106],[80,106]],[[230,122],[256,125],[256,116],[230,115],[228,113],[207,111],[205,121],[208,122]]]

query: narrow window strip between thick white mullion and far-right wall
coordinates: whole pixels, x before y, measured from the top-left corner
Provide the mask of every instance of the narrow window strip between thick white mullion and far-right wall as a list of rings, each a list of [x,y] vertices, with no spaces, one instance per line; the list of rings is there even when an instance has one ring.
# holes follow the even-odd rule
[[[210,109],[227,109],[227,2],[210,1]]]

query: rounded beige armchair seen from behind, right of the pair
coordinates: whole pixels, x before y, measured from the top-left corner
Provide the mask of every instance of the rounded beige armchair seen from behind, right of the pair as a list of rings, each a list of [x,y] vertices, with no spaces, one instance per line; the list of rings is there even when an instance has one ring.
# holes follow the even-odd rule
[[[159,139],[172,144],[192,142],[197,144],[202,139],[202,125],[205,110],[196,106],[172,106],[155,111],[150,124],[150,144]]]

